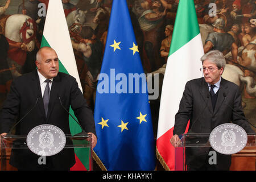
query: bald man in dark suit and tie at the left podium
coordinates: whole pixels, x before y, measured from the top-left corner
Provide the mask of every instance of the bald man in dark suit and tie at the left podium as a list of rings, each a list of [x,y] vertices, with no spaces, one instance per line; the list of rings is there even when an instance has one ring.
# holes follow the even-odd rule
[[[59,72],[59,59],[52,48],[41,48],[35,63],[37,70],[16,78],[11,85],[0,113],[0,134],[6,135],[15,119],[19,121],[31,109],[16,126],[17,135],[27,135],[31,129],[43,124],[55,125],[65,134],[70,134],[69,114],[63,106],[67,110],[71,106],[83,129],[92,134],[92,147],[96,146],[93,114],[76,79]],[[22,170],[68,170],[75,164],[73,150],[63,150],[47,157],[46,165],[40,166],[38,158],[29,150],[13,150],[10,164]]]

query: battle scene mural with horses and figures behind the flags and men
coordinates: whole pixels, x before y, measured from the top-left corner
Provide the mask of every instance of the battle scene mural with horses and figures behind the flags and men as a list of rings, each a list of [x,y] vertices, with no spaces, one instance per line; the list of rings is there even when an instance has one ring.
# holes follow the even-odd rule
[[[112,0],[62,2],[84,97],[93,110]],[[224,53],[227,65],[222,77],[240,86],[246,118],[255,125],[256,1],[194,2],[204,51],[218,49]],[[159,97],[150,101],[156,137],[160,93],[179,0],[127,3],[144,72],[159,74]],[[0,0],[0,108],[12,80],[36,68],[47,5],[48,0]]]

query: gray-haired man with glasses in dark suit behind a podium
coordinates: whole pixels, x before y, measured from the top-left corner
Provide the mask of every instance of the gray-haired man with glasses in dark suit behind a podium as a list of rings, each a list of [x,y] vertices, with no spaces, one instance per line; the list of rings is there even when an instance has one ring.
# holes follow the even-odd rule
[[[231,121],[243,127],[247,133],[254,133],[249,123],[243,119],[245,115],[238,86],[221,77],[226,65],[223,54],[217,50],[210,51],[201,57],[201,61],[204,77],[187,82],[179,111],[175,115],[174,136],[171,138],[174,147],[177,147],[179,135],[185,132],[189,119],[188,133],[210,133],[218,125]],[[188,169],[229,170],[231,155],[217,152],[217,164],[210,165],[207,156],[211,150],[213,149],[186,148]]]

